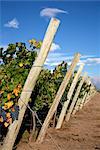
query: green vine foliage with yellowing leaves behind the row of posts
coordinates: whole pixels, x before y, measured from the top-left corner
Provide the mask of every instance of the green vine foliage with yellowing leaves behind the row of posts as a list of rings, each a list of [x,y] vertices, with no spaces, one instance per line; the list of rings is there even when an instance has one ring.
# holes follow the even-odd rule
[[[40,49],[42,44],[42,42],[37,42],[34,39],[29,40],[29,43],[30,49],[26,47],[25,43],[21,42],[9,44],[5,51],[3,48],[0,48],[0,58],[2,59],[2,63],[0,64],[0,125],[4,125],[5,127],[8,127],[18,118],[19,107],[17,102],[28,73],[37,56],[36,50]],[[64,61],[53,72],[43,67],[30,98],[30,106],[32,109],[37,112],[42,112],[39,113],[41,119],[43,118],[43,113],[47,113],[46,109],[48,110],[50,108],[67,72],[67,68],[67,63]],[[62,103],[67,98],[67,92],[76,73],[77,71],[74,72],[66,87],[61,100]],[[82,97],[86,90],[89,91],[89,86],[84,83],[79,96]],[[74,94],[75,91],[73,96]]]

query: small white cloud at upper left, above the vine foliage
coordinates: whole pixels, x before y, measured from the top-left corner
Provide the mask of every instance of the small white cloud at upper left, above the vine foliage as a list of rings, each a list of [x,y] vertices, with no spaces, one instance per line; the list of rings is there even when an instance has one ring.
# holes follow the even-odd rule
[[[8,28],[19,28],[19,22],[16,18],[12,19],[11,21],[8,21],[6,24],[4,24],[5,27]]]

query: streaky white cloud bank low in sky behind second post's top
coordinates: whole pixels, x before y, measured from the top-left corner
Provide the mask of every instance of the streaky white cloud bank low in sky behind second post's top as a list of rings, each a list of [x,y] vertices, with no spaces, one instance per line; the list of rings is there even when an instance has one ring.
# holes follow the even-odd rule
[[[55,67],[58,64],[60,64],[62,61],[67,62],[68,65],[71,64],[72,59],[74,55],[68,56],[67,53],[62,53],[61,51],[50,51],[45,65],[49,68],[50,66]],[[79,63],[77,66],[85,64],[85,66],[92,66],[92,65],[97,65],[100,64],[100,58],[96,57],[95,55],[82,55],[80,58]]]

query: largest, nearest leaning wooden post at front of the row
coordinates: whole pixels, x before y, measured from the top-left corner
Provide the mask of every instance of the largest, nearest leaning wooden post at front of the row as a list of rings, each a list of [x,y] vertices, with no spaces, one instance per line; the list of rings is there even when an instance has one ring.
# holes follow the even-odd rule
[[[13,148],[13,145],[15,143],[16,137],[18,135],[18,132],[19,132],[26,108],[27,108],[26,105],[29,102],[29,98],[31,96],[33,88],[35,87],[41,68],[44,65],[45,59],[48,55],[49,49],[51,47],[51,44],[55,36],[55,33],[57,31],[57,28],[59,26],[59,23],[60,21],[55,18],[52,18],[50,21],[50,24],[48,26],[48,29],[46,31],[46,34],[45,34],[45,37],[44,37],[44,40],[40,49],[40,53],[29,72],[29,75],[23,87],[23,91],[21,93],[20,99],[18,101],[18,105],[20,108],[18,120],[14,121],[13,124],[9,127],[2,150],[12,150]]]

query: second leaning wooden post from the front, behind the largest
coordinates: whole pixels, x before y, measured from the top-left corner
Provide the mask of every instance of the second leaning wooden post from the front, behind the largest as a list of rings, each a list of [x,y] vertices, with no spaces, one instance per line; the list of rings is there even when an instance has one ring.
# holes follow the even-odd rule
[[[46,117],[46,119],[45,119],[45,121],[44,121],[44,123],[42,125],[42,128],[40,130],[39,136],[37,138],[37,143],[41,143],[43,141],[44,136],[46,134],[46,131],[48,129],[50,120],[52,119],[52,117],[53,117],[53,115],[54,115],[54,113],[55,113],[55,111],[56,111],[56,109],[58,107],[60,99],[61,99],[61,97],[62,97],[62,95],[63,95],[63,93],[64,93],[64,91],[66,89],[67,84],[69,83],[71,75],[72,75],[72,73],[73,73],[73,71],[74,71],[74,69],[75,69],[79,59],[80,59],[80,54],[77,53],[75,55],[73,61],[72,61],[72,64],[71,64],[69,70],[67,71],[67,73],[66,73],[66,75],[65,75],[65,77],[64,77],[64,79],[63,79],[63,81],[62,81],[62,83],[61,83],[61,85],[59,87],[59,90],[58,90],[58,92],[56,94],[56,97],[55,97],[55,99],[54,99],[54,101],[53,101],[53,103],[51,105],[51,108],[49,109],[47,117]]]

